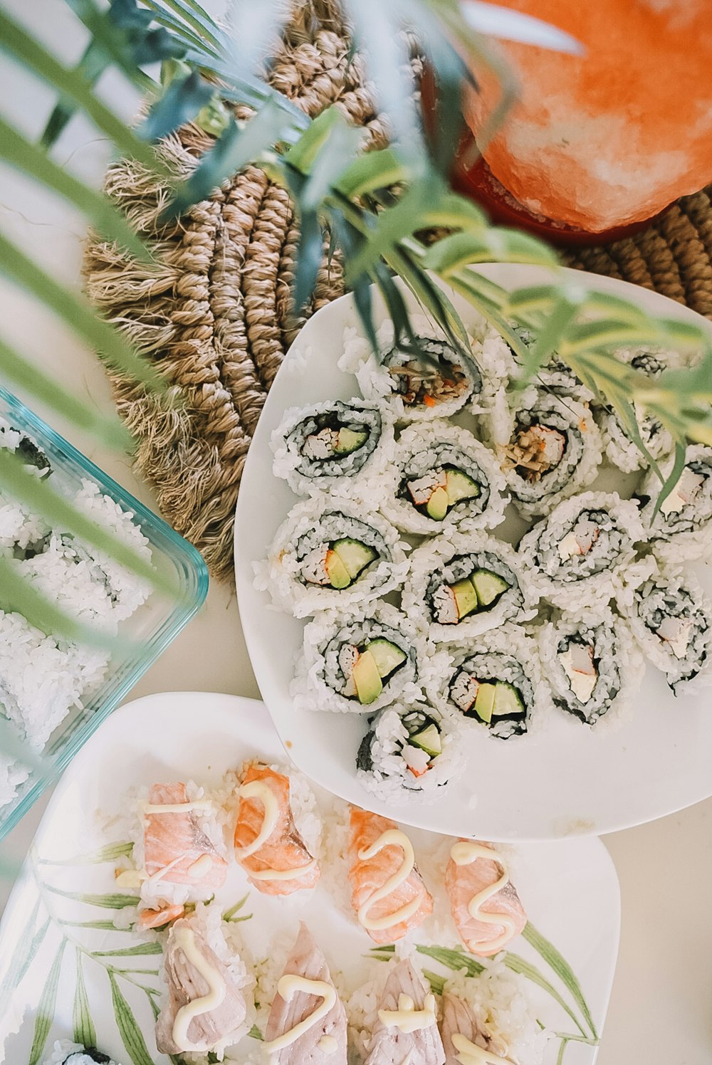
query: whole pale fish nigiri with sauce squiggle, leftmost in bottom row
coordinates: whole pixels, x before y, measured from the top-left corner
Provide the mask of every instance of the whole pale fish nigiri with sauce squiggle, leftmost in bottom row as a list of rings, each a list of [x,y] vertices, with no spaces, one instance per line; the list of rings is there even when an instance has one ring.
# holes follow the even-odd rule
[[[247,1031],[244,965],[225,943],[220,913],[204,908],[172,925],[163,957],[168,1001],[156,1021],[164,1054],[222,1058]]]

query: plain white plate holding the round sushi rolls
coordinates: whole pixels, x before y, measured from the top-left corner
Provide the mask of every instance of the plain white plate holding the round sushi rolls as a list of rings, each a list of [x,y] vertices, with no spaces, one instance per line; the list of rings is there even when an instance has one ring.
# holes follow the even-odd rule
[[[481,273],[507,288],[540,284],[548,272],[534,266],[489,265]],[[625,295],[657,313],[705,322],[658,293],[605,277],[565,271],[571,282],[589,282]],[[453,295],[463,320],[472,309]],[[410,306],[414,305],[409,299]],[[376,321],[385,318],[374,297]],[[709,327],[709,323],[706,323]],[[270,607],[255,589],[253,562],[265,557],[296,497],[272,474],[270,436],[287,407],[359,395],[354,377],[337,368],[346,326],[358,327],[353,299],[320,310],[292,345],[270,390],[247,455],[236,522],[236,578],[240,616],[259,689],[282,742],[305,773],[336,794],[386,813],[356,780],[355,758],[366,730],[362,715],[296,712],[289,695],[304,622]],[[306,358],[305,358],[306,357]],[[621,475],[605,471],[610,490]],[[519,532],[522,526],[519,526]],[[501,534],[501,528],[496,535]],[[712,574],[697,569],[712,590]],[[436,832],[489,839],[556,839],[598,835],[641,824],[712,794],[709,751],[712,714],[705,694],[673,697],[662,674],[649,667],[632,720],[618,732],[592,732],[557,712],[546,737],[496,740],[467,730],[469,768],[427,806],[414,801],[399,816]]]

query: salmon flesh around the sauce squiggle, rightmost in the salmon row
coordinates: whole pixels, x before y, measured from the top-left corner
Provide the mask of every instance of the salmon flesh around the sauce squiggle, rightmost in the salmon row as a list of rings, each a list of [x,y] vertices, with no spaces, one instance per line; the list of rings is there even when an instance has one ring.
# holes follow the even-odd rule
[[[459,841],[471,842],[465,839]],[[497,853],[491,843],[482,840],[478,842]],[[503,869],[501,862],[495,858],[490,861],[478,857],[468,865],[456,865],[452,856],[446,869],[446,890],[460,939],[472,954],[479,954],[481,957],[503,950],[515,936],[519,935],[527,923],[527,914],[511,881],[480,907],[483,914],[501,914],[507,918],[506,921],[490,923],[478,920],[469,912],[471,900],[480,891],[496,884],[501,879]]]

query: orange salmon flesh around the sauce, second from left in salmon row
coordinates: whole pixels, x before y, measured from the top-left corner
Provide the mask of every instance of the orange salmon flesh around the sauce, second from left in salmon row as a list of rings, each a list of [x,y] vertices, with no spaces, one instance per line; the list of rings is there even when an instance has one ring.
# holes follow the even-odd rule
[[[259,850],[241,857],[240,850],[253,843],[260,833],[265,807],[260,799],[240,796],[238,823],[234,826],[234,848],[236,857],[247,872],[249,883],[264,895],[292,895],[302,888],[313,887],[321,873],[294,824],[289,802],[289,776],[276,773],[274,769],[261,763],[253,763],[242,783],[250,784],[253,781],[260,781],[270,788],[277,800],[278,817],[273,831]],[[305,871],[289,880],[261,880],[249,875],[269,870],[291,869]]]

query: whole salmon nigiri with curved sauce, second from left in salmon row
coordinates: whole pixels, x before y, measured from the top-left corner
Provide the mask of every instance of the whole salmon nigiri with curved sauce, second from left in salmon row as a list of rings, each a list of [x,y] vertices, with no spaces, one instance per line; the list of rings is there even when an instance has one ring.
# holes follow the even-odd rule
[[[296,831],[289,802],[289,776],[254,763],[240,786],[234,853],[250,884],[264,895],[292,895],[313,887],[315,858]]]

